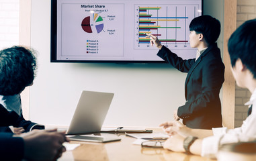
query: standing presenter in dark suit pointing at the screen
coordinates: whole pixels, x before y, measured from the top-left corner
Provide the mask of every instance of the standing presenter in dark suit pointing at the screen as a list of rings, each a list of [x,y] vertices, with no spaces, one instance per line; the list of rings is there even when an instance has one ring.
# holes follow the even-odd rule
[[[187,72],[185,80],[185,105],[174,111],[175,120],[183,119],[187,127],[212,129],[222,127],[220,89],[224,82],[224,64],[216,44],[220,35],[220,21],[210,15],[194,18],[189,25],[189,43],[198,48],[196,58],[183,60],[162,46],[156,36],[148,34],[151,44],[159,48],[158,56]]]

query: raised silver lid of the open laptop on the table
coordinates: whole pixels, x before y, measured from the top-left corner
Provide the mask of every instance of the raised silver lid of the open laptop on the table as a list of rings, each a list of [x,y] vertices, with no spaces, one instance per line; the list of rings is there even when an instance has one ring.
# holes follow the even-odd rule
[[[67,135],[99,132],[113,97],[114,93],[82,91]]]

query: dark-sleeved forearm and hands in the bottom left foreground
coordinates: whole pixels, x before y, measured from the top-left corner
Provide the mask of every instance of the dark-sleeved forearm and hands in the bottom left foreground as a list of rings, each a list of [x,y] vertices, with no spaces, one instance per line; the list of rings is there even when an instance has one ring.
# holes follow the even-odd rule
[[[66,151],[63,142],[69,142],[65,131],[56,129],[35,130],[21,136],[0,133],[1,160],[56,160]]]

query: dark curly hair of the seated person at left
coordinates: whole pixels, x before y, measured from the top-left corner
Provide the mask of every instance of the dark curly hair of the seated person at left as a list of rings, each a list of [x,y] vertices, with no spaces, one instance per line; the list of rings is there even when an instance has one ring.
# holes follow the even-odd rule
[[[13,46],[0,51],[0,95],[16,95],[31,85],[36,70],[32,50]]]

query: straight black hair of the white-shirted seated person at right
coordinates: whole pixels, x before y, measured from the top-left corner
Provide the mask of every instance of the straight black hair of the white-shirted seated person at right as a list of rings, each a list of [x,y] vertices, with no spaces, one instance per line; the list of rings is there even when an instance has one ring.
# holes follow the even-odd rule
[[[230,36],[228,53],[232,67],[241,59],[256,79],[256,19],[245,21]]]

